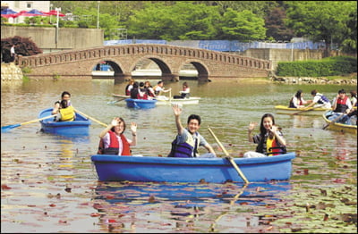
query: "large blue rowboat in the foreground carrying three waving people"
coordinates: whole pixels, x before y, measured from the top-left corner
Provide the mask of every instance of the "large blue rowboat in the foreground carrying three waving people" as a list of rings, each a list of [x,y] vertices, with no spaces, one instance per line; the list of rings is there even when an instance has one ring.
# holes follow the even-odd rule
[[[234,158],[250,182],[289,180],[294,153],[260,158]],[[243,182],[226,158],[175,158],[91,155],[101,181]]]

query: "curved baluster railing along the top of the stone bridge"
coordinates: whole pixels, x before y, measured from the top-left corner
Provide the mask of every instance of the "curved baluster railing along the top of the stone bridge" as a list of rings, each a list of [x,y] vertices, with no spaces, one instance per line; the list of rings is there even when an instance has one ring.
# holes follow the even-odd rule
[[[101,46],[80,50],[55,52],[48,54],[37,54],[32,56],[19,56],[20,67],[38,67],[53,64],[73,63],[81,60],[95,60],[121,55],[136,54],[158,54],[168,56],[185,56],[198,60],[210,60],[218,63],[231,63],[238,66],[269,70],[271,63],[267,60],[260,60],[245,57],[237,54],[228,54],[206,49],[197,49],[183,46],[166,46],[156,44],[133,44],[120,46]]]

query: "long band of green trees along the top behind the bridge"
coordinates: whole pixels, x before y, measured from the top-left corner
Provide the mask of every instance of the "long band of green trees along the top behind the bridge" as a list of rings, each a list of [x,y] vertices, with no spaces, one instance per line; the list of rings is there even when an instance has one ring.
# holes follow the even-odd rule
[[[199,40],[324,40],[356,53],[356,1],[51,1],[81,16],[82,28],[105,30],[105,40],[128,38]],[[98,9],[99,6],[99,9]],[[99,10],[99,11],[98,11]],[[84,17],[86,16],[86,17]],[[73,27],[72,21],[61,26]]]

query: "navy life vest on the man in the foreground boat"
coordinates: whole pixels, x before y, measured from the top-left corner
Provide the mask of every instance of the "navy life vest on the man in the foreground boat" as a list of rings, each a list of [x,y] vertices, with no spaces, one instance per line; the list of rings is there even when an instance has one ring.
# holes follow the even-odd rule
[[[177,144],[178,137],[172,142],[172,149],[170,150],[168,157],[196,157],[198,153],[198,146],[200,145],[200,135],[197,133],[197,140],[194,142],[194,138],[189,136],[186,142]]]

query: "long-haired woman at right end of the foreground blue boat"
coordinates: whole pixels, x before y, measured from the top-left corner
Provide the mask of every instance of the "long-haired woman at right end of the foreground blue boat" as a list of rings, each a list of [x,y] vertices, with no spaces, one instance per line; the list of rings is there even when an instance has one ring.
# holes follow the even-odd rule
[[[260,122],[260,134],[252,136],[257,122],[250,122],[248,138],[251,143],[258,144],[256,152],[249,151],[243,157],[265,157],[279,154],[286,154],[286,140],[275,125],[275,118],[270,113],[262,115]]]

